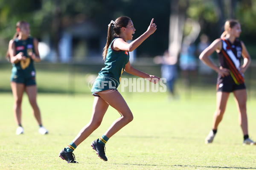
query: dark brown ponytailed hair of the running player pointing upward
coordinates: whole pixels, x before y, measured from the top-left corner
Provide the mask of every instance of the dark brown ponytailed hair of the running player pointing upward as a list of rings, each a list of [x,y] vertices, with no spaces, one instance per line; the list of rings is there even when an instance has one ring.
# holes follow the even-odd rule
[[[103,48],[103,52],[102,52],[102,56],[103,56],[103,59],[105,60],[106,58],[106,55],[108,53],[108,47],[109,45],[111,44],[111,42],[113,41],[113,37],[119,35],[121,32],[120,32],[120,29],[122,27],[126,27],[129,23],[129,20],[131,20],[131,18],[129,17],[125,17],[125,16],[122,16],[122,17],[118,17],[115,22],[111,22],[109,25],[108,25],[108,37],[107,37],[107,43],[105,45],[105,47]],[[113,30],[112,30],[113,29]],[[114,31],[114,34],[112,34],[112,31]]]

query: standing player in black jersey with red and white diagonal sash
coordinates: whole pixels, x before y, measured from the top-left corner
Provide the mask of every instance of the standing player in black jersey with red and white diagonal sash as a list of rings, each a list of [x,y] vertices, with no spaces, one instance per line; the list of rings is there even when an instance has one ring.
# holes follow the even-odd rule
[[[241,25],[237,20],[227,20],[224,25],[225,31],[221,38],[216,39],[199,56],[199,58],[210,68],[218,73],[217,79],[217,106],[213,116],[212,130],[205,139],[205,143],[212,143],[217,128],[222,120],[226,109],[227,100],[233,92],[237,109],[239,112],[239,125],[244,135],[243,144],[255,144],[248,135],[247,111],[246,111],[246,87],[244,84],[244,72],[250,64],[250,55],[244,45],[239,40]],[[217,52],[220,67],[215,65],[209,56]],[[241,58],[243,57],[243,65]]]

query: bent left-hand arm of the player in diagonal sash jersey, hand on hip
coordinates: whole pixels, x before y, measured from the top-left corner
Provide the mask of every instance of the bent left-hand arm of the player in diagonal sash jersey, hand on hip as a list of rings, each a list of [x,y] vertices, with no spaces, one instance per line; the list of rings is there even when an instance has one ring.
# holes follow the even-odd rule
[[[208,65],[210,68],[212,68],[214,71],[216,71],[218,74],[221,74],[222,77],[229,75],[229,70],[227,68],[218,67],[215,65],[210,59],[209,56],[214,51],[221,51],[222,48],[222,42],[221,39],[216,39],[212,42],[211,45],[209,45],[207,48],[204,49],[204,51],[200,54],[199,59],[201,59],[204,64]]]

